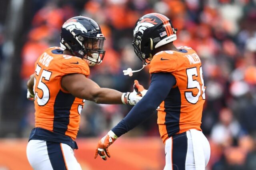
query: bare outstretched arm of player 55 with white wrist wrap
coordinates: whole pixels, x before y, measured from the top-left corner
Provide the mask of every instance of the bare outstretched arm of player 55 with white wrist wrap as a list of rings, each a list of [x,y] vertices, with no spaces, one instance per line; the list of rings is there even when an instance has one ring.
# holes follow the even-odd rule
[[[136,92],[121,93],[108,88],[101,88],[83,74],[69,74],[62,77],[61,86],[75,97],[102,104],[135,105],[141,97]]]

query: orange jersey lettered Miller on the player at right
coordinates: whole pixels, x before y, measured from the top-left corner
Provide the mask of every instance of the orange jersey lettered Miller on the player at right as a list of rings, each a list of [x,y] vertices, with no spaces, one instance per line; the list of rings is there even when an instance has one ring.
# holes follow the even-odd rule
[[[160,51],[150,63],[150,73],[171,73],[176,79],[176,84],[157,109],[163,142],[189,129],[201,130],[205,101],[201,61],[192,48],[182,46],[178,49],[180,51]]]

